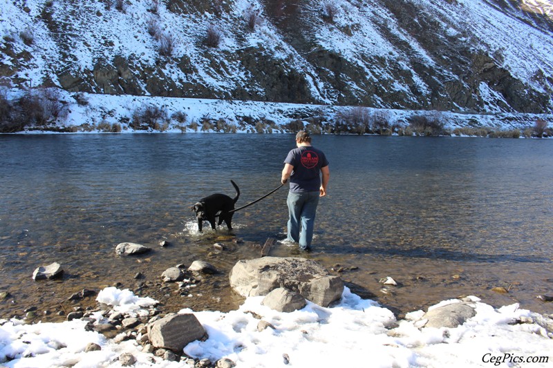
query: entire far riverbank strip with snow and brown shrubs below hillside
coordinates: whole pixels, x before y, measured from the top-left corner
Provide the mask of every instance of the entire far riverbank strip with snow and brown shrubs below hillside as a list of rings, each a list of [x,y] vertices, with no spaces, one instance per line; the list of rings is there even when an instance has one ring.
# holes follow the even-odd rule
[[[311,133],[546,137],[553,115],[7,90],[1,133]],[[24,98],[22,98],[24,97]],[[19,101],[15,104],[15,101]],[[23,101],[23,102],[21,102]],[[28,106],[26,105],[28,104]]]

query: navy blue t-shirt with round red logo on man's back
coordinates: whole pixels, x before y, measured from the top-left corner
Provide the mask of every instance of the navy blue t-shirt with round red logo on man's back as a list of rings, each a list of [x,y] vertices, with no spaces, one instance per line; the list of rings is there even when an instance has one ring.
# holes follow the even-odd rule
[[[321,167],[328,166],[328,159],[323,151],[313,146],[301,146],[288,153],[285,164],[294,166],[290,175],[290,191],[305,193],[319,191]]]

